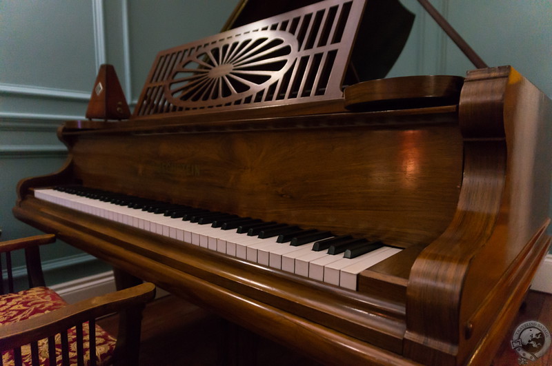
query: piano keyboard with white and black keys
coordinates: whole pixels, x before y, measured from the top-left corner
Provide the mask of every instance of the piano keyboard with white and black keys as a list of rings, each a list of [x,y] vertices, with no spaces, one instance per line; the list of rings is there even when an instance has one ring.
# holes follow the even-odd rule
[[[302,230],[222,212],[141,199],[86,187],[34,190],[37,199],[70,207],[346,289],[357,289],[357,275],[400,252],[380,241]]]

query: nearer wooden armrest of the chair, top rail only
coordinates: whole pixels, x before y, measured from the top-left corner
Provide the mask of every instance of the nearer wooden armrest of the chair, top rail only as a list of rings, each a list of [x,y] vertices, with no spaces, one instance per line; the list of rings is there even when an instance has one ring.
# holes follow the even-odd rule
[[[97,296],[34,318],[0,325],[0,349],[21,347],[34,340],[57,334],[79,323],[132,307],[144,307],[155,296],[155,285],[135,287]]]

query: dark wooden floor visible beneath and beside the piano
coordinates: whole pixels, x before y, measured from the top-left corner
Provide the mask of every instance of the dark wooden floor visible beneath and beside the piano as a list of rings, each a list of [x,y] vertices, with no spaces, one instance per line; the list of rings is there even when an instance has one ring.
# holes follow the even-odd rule
[[[525,321],[538,321],[552,326],[552,295],[529,291],[524,304],[517,310],[508,332],[500,341],[500,349],[486,354],[485,363],[494,366],[517,366],[519,355],[512,349],[515,329]],[[101,319],[99,325],[117,333],[117,316]],[[176,296],[165,296],[146,305],[142,321],[140,365],[323,365],[302,357],[285,345],[252,334],[237,338],[224,319]],[[233,338],[232,338],[233,337]],[[235,343],[228,339],[236,340]],[[240,342],[240,340],[242,340]],[[253,345],[253,347],[249,347]],[[248,355],[246,359],[242,353]],[[238,356],[238,358],[234,358]],[[242,356],[241,358],[239,356]],[[533,365],[550,365],[552,351],[538,358]],[[249,363],[248,363],[249,361]]]

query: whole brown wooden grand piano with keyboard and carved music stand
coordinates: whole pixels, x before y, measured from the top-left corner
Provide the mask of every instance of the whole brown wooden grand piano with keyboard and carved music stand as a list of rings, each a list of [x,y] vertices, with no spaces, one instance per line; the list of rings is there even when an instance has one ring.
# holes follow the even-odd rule
[[[550,245],[551,101],[509,66],[343,92],[364,5],[160,52],[14,215],[322,363],[489,363]]]

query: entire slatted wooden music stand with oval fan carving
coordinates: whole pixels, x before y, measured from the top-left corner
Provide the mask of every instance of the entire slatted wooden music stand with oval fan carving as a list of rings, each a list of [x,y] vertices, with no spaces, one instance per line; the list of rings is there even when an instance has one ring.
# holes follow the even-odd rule
[[[133,116],[342,98],[366,0],[326,0],[157,54]]]

